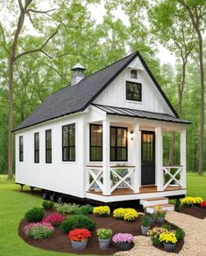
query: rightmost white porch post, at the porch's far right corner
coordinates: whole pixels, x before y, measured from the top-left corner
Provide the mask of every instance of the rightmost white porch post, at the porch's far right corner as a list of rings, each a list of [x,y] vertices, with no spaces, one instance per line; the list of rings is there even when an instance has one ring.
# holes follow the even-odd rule
[[[181,130],[181,187],[186,188],[186,129]]]

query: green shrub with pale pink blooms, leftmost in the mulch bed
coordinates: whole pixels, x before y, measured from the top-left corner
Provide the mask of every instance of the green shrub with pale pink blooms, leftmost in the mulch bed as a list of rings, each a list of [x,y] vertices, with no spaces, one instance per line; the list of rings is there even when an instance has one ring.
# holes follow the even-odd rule
[[[31,223],[25,226],[25,235],[29,238],[42,240],[53,234],[53,226],[50,223]]]

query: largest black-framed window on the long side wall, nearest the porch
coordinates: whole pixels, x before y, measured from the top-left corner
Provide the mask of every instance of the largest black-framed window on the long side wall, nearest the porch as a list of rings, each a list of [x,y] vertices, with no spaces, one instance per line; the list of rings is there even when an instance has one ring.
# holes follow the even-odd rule
[[[62,161],[75,161],[75,123],[62,127]]]

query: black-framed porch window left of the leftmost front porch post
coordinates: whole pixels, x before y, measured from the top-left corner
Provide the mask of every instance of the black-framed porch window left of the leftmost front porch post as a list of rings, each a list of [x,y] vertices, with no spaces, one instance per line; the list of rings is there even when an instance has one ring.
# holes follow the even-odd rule
[[[90,125],[90,161],[103,161],[103,126]]]

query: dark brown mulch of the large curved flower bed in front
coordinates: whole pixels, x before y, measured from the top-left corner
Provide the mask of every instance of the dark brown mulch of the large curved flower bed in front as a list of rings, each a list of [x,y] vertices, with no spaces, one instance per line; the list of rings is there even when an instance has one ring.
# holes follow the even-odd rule
[[[46,210],[46,216],[53,213],[54,211]],[[114,219],[112,216],[110,217],[98,217],[89,215],[91,219],[96,222],[96,230],[99,228],[110,228],[113,230],[113,234],[119,232],[131,233],[133,236],[140,236],[142,235],[141,228],[140,228],[140,217],[134,223],[128,223],[125,221],[120,221]],[[167,223],[167,222],[166,222]],[[54,252],[69,252],[69,253],[76,253],[76,254],[98,254],[98,255],[112,255],[119,250],[117,247],[111,242],[110,248],[108,250],[101,250],[99,248],[98,238],[96,236],[96,230],[92,232],[92,237],[89,238],[88,245],[84,251],[74,251],[71,245],[70,240],[67,238],[67,235],[62,233],[60,228],[54,228],[53,236],[51,238],[46,238],[41,241],[34,240],[32,238],[27,238],[24,233],[25,225],[28,222],[23,219],[18,226],[18,235],[20,238],[25,240],[25,242],[29,245],[42,248],[44,250],[54,251]],[[155,223],[151,228],[154,226],[161,226],[158,223]],[[176,245],[175,252],[178,253],[181,250],[182,245],[184,244],[183,241],[178,242]],[[162,246],[158,246],[160,250],[164,250]]]

